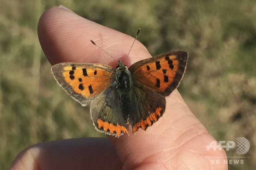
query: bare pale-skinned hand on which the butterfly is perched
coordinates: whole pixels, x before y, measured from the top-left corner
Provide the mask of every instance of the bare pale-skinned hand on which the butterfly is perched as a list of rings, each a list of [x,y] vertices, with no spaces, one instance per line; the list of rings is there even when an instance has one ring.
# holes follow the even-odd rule
[[[135,34],[136,31],[137,28]],[[116,61],[90,40],[117,60],[126,57],[134,40],[126,34],[84,19],[63,6],[52,7],[41,16],[38,36],[52,65],[78,62],[116,67]],[[126,65],[129,67],[150,57],[147,48],[136,41]],[[166,111],[153,126],[146,131],[139,129],[135,135],[130,129],[129,134],[119,138],[78,138],[35,144],[23,150],[10,169],[228,168],[227,164],[223,164],[223,160],[227,159],[223,149],[206,150],[205,146],[215,139],[192,114],[177,90],[166,97]],[[211,164],[211,160],[219,160],[220,163]]]

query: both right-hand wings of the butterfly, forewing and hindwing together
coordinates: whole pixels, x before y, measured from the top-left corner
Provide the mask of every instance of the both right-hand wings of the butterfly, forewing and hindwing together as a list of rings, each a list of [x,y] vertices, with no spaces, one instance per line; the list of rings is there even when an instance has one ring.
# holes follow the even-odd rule
[[[130,115],[132,132],[138,128],[146,130],[156,122],[165,110],[165,96],[180,84],[186,70],[188,54],[183,51],[170,52],[131,65],[137,114]]]

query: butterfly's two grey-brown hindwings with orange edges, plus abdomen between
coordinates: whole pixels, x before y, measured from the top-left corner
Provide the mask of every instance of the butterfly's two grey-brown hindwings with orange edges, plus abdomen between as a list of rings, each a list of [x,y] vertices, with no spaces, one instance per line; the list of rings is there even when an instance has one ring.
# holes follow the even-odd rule
[[[143,86],[136,86],[131,80],[130,89],[124,93],[115,87],[108,87],[91,102],[90,113],[97,130],[120,136],[139,128],[146,130],[162,116],[165,98]]]

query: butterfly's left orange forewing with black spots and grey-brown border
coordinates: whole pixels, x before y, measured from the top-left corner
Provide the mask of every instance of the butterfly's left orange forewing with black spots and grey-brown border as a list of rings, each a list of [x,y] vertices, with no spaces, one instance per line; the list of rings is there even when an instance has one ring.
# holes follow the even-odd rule
[[[52,66],[58,84],[83,106],[111,85],[115,69],[109,65],[60,63]]]

